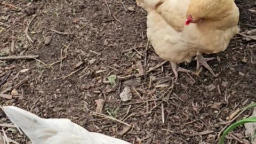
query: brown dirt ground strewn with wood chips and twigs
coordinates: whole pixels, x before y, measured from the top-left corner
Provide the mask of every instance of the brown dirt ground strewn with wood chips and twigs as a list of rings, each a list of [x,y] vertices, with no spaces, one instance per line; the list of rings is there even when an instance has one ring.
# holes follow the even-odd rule
[[[39,56],[0,60],[0,92],[7,97],[0,97],[2,106],[43,118],[69,118],[89,131],[131,143],[217,143],[230,120],[252,114],[230,115],[255,101],[254,0],[236,0],[242,35],[225,52],[209,55],[218,58],[209,65],[219,76],[205,69],[200,77],[181,73],[175,85],[169,63],[147,46],[146,12],[134,0],[0,4],[0,57]],[[195,64],[181,67],[195,71]],[[116,83],[108,80],[111,75]],[[126,86],[132,99],[123,102],[119,94]],[[106,101],[103,115],[93,113],[99,99]],[[0,124],[11,124],[3,111]],[[29,141],[13,127],[0,128],[12,140]],[[231,133],[229,141],[244,143],[244,128]]]

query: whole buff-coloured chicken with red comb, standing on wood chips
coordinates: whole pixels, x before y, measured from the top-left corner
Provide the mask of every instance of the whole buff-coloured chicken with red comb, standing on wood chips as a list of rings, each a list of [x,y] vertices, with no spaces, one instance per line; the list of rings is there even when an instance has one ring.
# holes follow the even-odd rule
[[[225,51],[231,37],[239,32],[239,10],[234,0],[136,0],[148,12],[147,37],[156,53],[171,62],[175,78],[178,67],[194,56],[197,71],[203,65],[213,75],[202,53]],[[191,24],[190,24],[191,23]]]

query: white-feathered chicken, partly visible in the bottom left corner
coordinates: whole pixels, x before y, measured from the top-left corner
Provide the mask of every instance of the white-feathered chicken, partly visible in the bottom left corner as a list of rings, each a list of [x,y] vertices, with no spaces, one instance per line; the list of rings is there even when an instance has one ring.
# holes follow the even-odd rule
[[[44,119],[13,106],[3,107],[3,110],[33,144],[131,144],[89,132],[69,119]]]

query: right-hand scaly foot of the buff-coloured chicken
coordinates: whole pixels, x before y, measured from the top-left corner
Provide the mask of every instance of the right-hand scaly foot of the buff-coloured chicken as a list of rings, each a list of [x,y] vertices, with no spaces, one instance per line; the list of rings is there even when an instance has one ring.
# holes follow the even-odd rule
[[[202,65],[205,68],[207,68],[215,76],[212,68],[207,64],[207,61],[214,60],[214,59],[216,59],[216,58],[204,58],[202,54],[197,53],[197,55],[196,55],[196,60],[197,60],[196,71],[198,71],[200,66]]]

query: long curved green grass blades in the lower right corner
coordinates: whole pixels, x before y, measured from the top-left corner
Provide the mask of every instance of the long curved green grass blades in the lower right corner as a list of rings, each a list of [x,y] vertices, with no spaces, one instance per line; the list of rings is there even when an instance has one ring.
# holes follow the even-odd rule
[[[249,106],[247,106],[247,107],[245,107],[245,108],[243,108],[243,109],[248,109],[248,108],[255,107],[255,106],[256,106],[256,103],[253,103],[252,105],[249,105]],[[241,110],[243,110],[243,109],[241,109]],[[240,120],[240,121],[238,121],[238,122],[236,122],[236,123],[230,125],[230,126],[223,132],[222,137],[221,137],[221,139],[220,139],[220,144],[223,144],[226,135],[227,135],[231,130],[235,129],[237,126],[243,125],[243,124],[245,124],[245,123],[255,123],[255,122],[256,122],[256,117],[250,117],[250,118],[242,119],[242,120]]]

